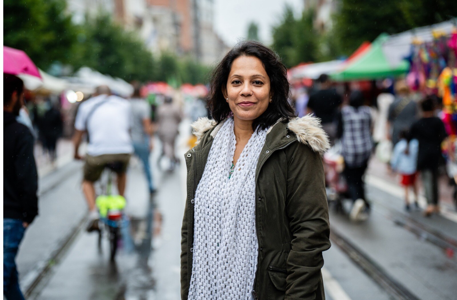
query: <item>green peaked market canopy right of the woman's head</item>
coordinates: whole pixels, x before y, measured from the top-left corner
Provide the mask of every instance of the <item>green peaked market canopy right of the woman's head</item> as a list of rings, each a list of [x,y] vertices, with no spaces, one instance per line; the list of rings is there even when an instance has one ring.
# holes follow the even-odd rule
[[[382,33],[371,44],[371,48],[360,58],[349,63],[341,71],[331,74],[330,77],[337,81],[371,80],[389,76],[399,76],[409,70],[409,62],[403,60],[398,66],[392,67],[383,52],[383,43],[389,35]]]

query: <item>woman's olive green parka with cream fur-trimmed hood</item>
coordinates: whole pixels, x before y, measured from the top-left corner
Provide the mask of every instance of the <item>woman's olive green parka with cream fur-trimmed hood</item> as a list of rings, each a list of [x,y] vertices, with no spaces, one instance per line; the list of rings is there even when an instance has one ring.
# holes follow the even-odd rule
[[[194,196],[223,122],[202,118],[192,126],[199,143],[185,154],[187,200],[181,229],[181,299],[192,271]],[[253,295],[260,300],[325,299],[322,252],[329,249],[329,213],[322,154],[329,148],[313,116],[269,129],[255,171],[255,223],[259,243]]]

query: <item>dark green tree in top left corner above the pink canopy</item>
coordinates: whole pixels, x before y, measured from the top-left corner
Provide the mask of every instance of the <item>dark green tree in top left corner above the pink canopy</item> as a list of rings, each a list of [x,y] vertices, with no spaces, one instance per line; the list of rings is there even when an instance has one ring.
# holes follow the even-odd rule
[[[5,0],[3,43],[24,50],[39,68],[69,63],[77,27],[65,14],[64,0]]]

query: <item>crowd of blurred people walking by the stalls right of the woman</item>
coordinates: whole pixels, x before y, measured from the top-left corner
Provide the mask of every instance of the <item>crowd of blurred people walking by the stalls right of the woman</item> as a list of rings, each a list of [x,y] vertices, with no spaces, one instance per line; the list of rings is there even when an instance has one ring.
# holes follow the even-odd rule
[[[411,191],[419,209],[420,177],[428,204],[424,215],[439,213],[438,179],[449,177],[455,188],[457,174],[456,147],[441,120],[441,100],[412,91],[404,79],[386,79],[379,86],[376,95],[367,95],[356,84],[341,87],[322,74],[310,88],[297,88],[293,100],[298,116],[313,113],[321,119],[332,152],[343,158],[344,194],[354,202],[351,218],[367,218],[370,202],[363,178],[372,157],[398,175],[406,211],[412,209]]]

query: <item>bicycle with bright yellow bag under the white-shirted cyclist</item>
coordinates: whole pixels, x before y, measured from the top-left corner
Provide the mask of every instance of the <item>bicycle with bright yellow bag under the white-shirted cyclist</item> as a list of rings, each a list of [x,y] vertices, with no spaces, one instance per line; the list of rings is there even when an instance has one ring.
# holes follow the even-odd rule
[[[109,233],[110,260],[114,261],[117,253],[117,246],[121,240],[121,228],[126,226],[126,219],[123,209],[126,200],[121,195],[112,195],[112,176],[119,169],[120,163],[106,165],[100,180],[101,192],[96,198],[96,206],[100,214],[101,226],[98,235],[98,247],[101,249],[103,230]],[[106,180],[104,180],[106,177]]]

